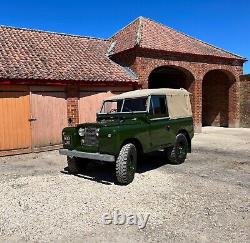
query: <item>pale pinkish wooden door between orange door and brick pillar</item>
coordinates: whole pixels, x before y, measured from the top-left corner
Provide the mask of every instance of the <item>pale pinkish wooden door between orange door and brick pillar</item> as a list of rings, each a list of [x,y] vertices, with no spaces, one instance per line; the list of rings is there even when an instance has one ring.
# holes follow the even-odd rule
[[[61,132],[67,126],[67,101],[60,91],[31,94],[32,147],[42,148],[62,143]]]

